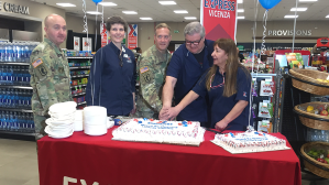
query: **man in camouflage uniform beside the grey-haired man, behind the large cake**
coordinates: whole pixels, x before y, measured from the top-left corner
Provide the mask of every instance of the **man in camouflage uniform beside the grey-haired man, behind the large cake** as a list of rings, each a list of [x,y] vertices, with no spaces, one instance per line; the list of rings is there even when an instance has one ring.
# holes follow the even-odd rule
[[[139,59],[140,92],[136,101],[136,117],[158,119],[162,109],[162,87],[165,70],[172,58],[167,50],[172,40],[171,28],[161,23],[155,26],[155,44],[146,50]]]

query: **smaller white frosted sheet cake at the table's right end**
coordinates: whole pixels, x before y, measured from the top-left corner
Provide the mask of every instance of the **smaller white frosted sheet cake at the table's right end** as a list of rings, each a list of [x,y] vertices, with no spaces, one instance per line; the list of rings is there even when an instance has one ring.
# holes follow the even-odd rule
[[[285,140],[256,131],[216,134],[211,142],[230,153],[252,153],[289,149],[286,146]]]

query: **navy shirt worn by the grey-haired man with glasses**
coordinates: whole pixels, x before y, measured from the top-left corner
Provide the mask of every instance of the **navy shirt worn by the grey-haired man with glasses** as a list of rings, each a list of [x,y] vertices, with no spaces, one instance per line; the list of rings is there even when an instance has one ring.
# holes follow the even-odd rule
[[[213,52],[213,41],[205,40],[205,56],[202,66],[194,57],[185,44],[182,44],[174,53],[166,76],[172,76],[177,79],[174,98],[175,104],[179,104],[180,100],[193,89],[201,75],[212,66],[213,59],[211,54]],[[177,118],[182,120],[191,121],[208,121],[207,119],[207,102],[204,97],[199,97],[185,109],[183,109]]]

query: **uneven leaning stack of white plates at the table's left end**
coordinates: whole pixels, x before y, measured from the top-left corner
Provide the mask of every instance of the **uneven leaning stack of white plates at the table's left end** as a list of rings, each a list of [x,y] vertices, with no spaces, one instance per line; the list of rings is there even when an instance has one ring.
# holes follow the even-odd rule
[[[46,119],[45,132],[51,138],[67,138],[74,132],[75,111],[74,101],[58,102],[50,107],[51,118]]]

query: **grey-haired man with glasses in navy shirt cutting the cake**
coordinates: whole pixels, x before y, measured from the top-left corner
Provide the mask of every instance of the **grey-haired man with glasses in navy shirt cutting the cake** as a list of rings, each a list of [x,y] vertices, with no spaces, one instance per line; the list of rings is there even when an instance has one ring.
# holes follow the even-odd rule
[[[205,39],[205,28],[199,22],[191,22],[184,29],[185,44],[174,53],[166,70],[166,83],[163,88],[163,107],[160,119],[172,107],[172,100],[177,105],[196,85],[201,75],[212,66],[213,41]],[[176,118],[178,121],[200,121],[202,127],[208,127],[206,98],[199,97]]]

